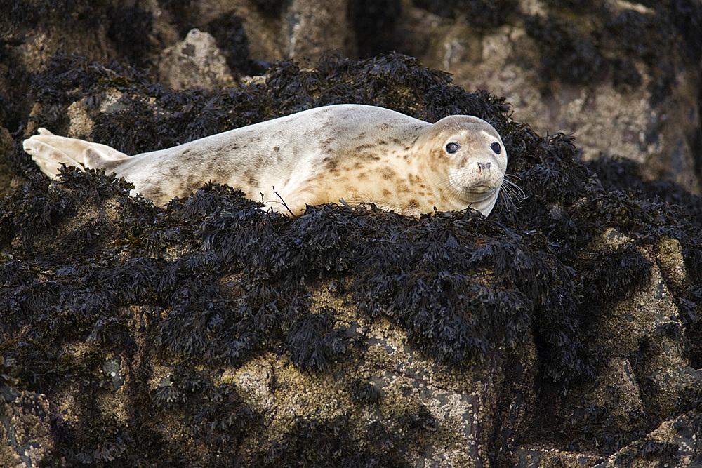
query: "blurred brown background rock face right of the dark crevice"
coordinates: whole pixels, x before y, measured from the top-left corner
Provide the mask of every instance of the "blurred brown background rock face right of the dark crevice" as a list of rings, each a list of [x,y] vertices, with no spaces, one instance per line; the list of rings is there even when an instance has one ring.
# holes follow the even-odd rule
[[[458,2],[437,2],[451,3]],[[504,3],[503,24],[492,28],[477,28],[458,10],[439,16],[423,8],[405,11],[398,28],[425,65],[451,72],[465,88],[505,96],[515,118],[538,133],[573,133],[585,160],[624,156],[647,180],[670,178],[700,192],[700,44],[684,45],[696,40],[686,37],[686,20],[662,4],[512,2],[519,11]],[[689,12],[694,24],[702,7]]]

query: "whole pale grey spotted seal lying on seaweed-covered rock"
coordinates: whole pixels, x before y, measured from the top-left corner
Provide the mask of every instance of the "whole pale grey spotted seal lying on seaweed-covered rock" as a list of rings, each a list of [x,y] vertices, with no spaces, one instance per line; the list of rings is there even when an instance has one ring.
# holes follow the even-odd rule
[[[467,206],[488,215],[503,183],[500,135],[473,116],[428,123],[382,107],[331,105],[128,156],[44,128],[24,141],[52,178],[60,163],[104,168],[165,204],[208,181],[242,189],[279,213],[305,205],[375,203],[418,216]],[[283,203],[284,202],[284,203]],[[286,208],[287,206],[287,208]]]

